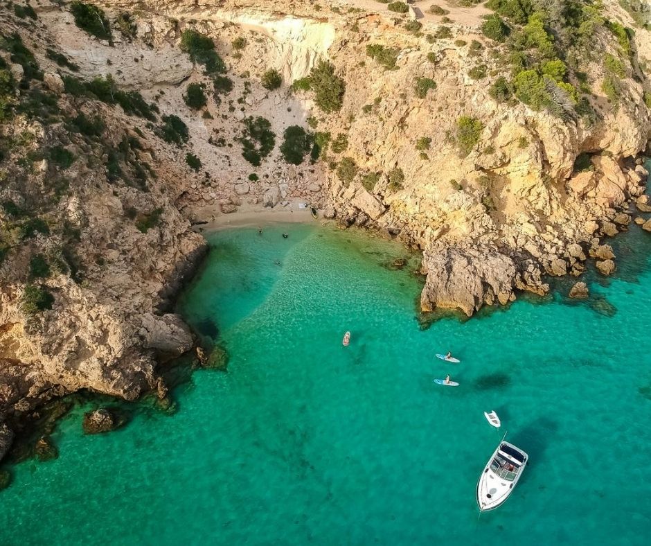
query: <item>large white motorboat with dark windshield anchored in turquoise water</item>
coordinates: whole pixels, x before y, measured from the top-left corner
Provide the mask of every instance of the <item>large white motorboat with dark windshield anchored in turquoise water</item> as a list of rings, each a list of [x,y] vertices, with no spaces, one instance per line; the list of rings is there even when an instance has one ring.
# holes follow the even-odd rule
[[[477,504],[482,512],[503,504],[515,489],[529,456],[512,443],[501,441],[477,482]]]

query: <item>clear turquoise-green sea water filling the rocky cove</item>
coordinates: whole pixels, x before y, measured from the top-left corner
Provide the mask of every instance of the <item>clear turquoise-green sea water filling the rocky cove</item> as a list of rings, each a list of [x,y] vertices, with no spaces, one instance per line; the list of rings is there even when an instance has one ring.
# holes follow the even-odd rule
[[[59,459],[14,468],[0,543],[645,544],[650,240],[616,243],[621,278],[593,279],[592,303],[522,298],[421,331],[418,279],[381,265],[398,246],[313,225],[215,234],[181,309],[218,329],[229,371],[112,434],[83,437],[76,410]],[[461,364],[434,358],[448,349]],[[461,386],[435,385],[445,373]],[[499,441],[485,410],[530,465],[478,520]]]

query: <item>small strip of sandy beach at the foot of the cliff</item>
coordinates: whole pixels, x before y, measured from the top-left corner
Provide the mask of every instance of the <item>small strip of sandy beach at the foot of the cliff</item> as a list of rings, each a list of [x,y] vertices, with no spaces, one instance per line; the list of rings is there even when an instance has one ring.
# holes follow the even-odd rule
[[[205,207],[197,211],[199,218],[206,218],[208,223],[197,224],[195,229],[199,231],[216,231],[219,229],[229,229],[231,227],[249,227],[264,226],[277,222],[316,222],[323,220],[322,212],[319,211],[319,218],[315,220],[309,206],[301,208],[305,200],[297,199],[287,206],[277,204],[273,209],[268,206],[242,205],[233,213],[224,214],[220,211],[219,206]]]

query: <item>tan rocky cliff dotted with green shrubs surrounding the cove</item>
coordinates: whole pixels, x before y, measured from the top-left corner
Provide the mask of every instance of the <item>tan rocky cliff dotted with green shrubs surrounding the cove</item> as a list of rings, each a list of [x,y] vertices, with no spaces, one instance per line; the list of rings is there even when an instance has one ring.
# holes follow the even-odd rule
[[[170,313],[191,224],[243,206],[300,197],[422,249],[424,310],[611,271],[601,239],[650,210],[643,22],[614,0],[431,5],[3,7],[0,422],[160,385],[193,344]]]

